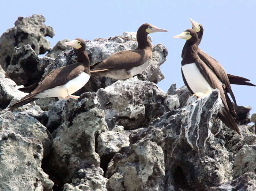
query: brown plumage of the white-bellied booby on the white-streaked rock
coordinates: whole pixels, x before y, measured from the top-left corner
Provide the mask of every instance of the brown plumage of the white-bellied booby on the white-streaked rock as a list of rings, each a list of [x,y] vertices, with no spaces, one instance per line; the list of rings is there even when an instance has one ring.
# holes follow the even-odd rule
[[[207,81],[207,83],[213,89],[217,88],[220,90],[220,97],[223,105],[220,107],[218,116],[220,117],[220,120],[224,122],[230,129],[235,130],[239,135],[241,135],[240,130],[237,127],[237,122],[236,122],[237,115],[232,105],[232,102],[228,97],[225,86],[221,85],[216,74],[204,63],[204,61],[198,55],[197,33],[193,29],[187,29],[185,31],[190,33],[191,38],[187,40],[184,45],[186,47],[184,48],[184,54],[181,61],[181,65],[184,66],[186,64],[195,63],[196,67],[198,68],[198,70],[200,71],[204,79]],[[182,69],[181,69],[181,72],[182,72],[183,81],[185,85],[188,87],[189,91],[192,94],[196,93],[189,87]],[[203,93],[206,93],[206,92],[203,92]]]

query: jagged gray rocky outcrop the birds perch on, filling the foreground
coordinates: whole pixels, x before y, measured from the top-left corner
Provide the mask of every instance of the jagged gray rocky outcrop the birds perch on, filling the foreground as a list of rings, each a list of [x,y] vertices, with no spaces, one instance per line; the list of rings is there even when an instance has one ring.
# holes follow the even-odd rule
[[[92,63],[136,48],[135,36],[87,40]],[[133,79],[92,76],[76,92],[79,99],[38,99],[6,111],[27,95],[16,84],[36,86],[51,70],[76,62],[73,49],[58,51],[50,53],[55,59],[39,58],[22,45],[6,71],[15,82],[0,71],[0,190],[255,190],[250,107],[237,110],[239,136],[217,117],[218,90],[199,99],[185,86],[160,90],[167,55],[160,44],[151,66]]]

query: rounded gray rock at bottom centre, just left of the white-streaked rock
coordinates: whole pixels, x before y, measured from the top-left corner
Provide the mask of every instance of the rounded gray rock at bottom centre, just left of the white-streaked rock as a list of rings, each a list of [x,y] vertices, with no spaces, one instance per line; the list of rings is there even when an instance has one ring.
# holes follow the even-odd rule
[[[163,150],[149,140],[124,148],[111,159],[106,177],[108,190],[158,190],[164,178]]]

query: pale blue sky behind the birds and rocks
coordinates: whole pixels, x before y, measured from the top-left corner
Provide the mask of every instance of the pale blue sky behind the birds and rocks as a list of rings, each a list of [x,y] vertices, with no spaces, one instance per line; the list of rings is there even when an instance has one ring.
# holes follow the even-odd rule
[[[168,49],[167,61],[161,66],[165,75],[158,86],[167,91],[172,83],[182,86],[181,50],[185,40],[172,39],[191,28],[189,17],[204,26],[200,48],[217,59],[227,73],[251,79],[255,77],[255,10],[256,1],[1,1],[0,34],[14,26],[19,16],[42,14],[46,25],[55,31],[52,47],[58,40],[108,38],[124,31],[137,31],[143,23],[167,29],[153,33],[153,44]],[[238,105],[252,106],[256,112],[256,88],[232,85]]]

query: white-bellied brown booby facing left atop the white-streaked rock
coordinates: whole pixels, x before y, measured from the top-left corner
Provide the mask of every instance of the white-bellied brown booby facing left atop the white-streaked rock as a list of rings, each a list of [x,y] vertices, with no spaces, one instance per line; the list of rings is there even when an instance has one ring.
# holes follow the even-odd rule
[[[218,116],[230,129],[241,135],[236,123],[236,112],[228,94],[216,74],[198,55],[198,35],[195,30],[187,29],[173,38],[187,40],[181,61],[181,73],[189,91],[197,97],[203,97],[214,89],[220,90],[222,104]]]

